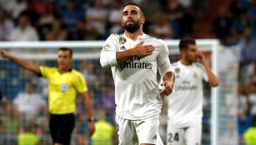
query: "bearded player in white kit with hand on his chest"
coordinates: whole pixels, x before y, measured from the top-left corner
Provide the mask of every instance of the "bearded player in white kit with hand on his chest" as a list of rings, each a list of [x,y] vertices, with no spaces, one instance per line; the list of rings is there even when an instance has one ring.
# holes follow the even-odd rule
[[[161,144],[160,94],[173,90],[174,75],[168,47],[143,32],[145,17],[135,3],[123,8],[124,33],[110,35],[101,51],[103,67],[111,67],[115,84],[116,124],[119,144]],[[159,91],[157,70],[165,89]]]

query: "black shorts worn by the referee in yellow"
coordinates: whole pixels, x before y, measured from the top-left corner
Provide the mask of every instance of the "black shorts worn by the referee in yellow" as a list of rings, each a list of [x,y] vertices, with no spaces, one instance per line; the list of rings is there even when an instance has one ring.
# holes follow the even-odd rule
[[[75,127],[74,114],[50,114],[49,126],[53,143],[69,145]]]

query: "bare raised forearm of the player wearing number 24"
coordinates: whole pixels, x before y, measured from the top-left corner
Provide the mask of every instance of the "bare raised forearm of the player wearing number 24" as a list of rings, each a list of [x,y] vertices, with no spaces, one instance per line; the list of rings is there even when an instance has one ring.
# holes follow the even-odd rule
[[[210,86],[215,87],[218,86],[218,78],[216,75],[213,74],[212,69],[208,65],[208,63],[205,60],[205,56],[203,53],[198,52],[198,58],[200,63],[203,65],[204,70],[206,71],[206,74],[208,75],[208,83]]]

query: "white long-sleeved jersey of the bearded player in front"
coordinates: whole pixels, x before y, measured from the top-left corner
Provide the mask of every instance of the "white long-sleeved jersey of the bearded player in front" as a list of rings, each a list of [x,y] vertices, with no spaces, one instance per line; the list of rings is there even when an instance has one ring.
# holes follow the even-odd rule
[[[127,63],[118,64],[117,51],[133,48],[138,42],[153,45],[155,51],[143,58],[133,57]],[[111,66],[115,83],[116,113],[127,119],[158,116],[162,101],[159,96],[157,70],[161,75],[170,71],[168,47],[162,40],[146,34],[136,41],[123,35],[111,35],[105,41],[100,58],[101,65]]]

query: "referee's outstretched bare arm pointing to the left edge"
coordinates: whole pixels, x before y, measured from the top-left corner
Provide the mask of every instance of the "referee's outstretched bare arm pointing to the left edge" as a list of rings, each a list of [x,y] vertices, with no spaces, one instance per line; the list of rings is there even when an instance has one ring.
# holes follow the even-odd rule
[[[27,60],[20,59],[16,56],[12,56],[6,51],[0,50],[0,56],[3,58],[7,58],[8,60],[12,60],[15,64],[20,65],[26,70],[33,71],[35,74],[39,75],[40,74],[40,69],[39,66],[33,65],[33,63],[28,62]]]

